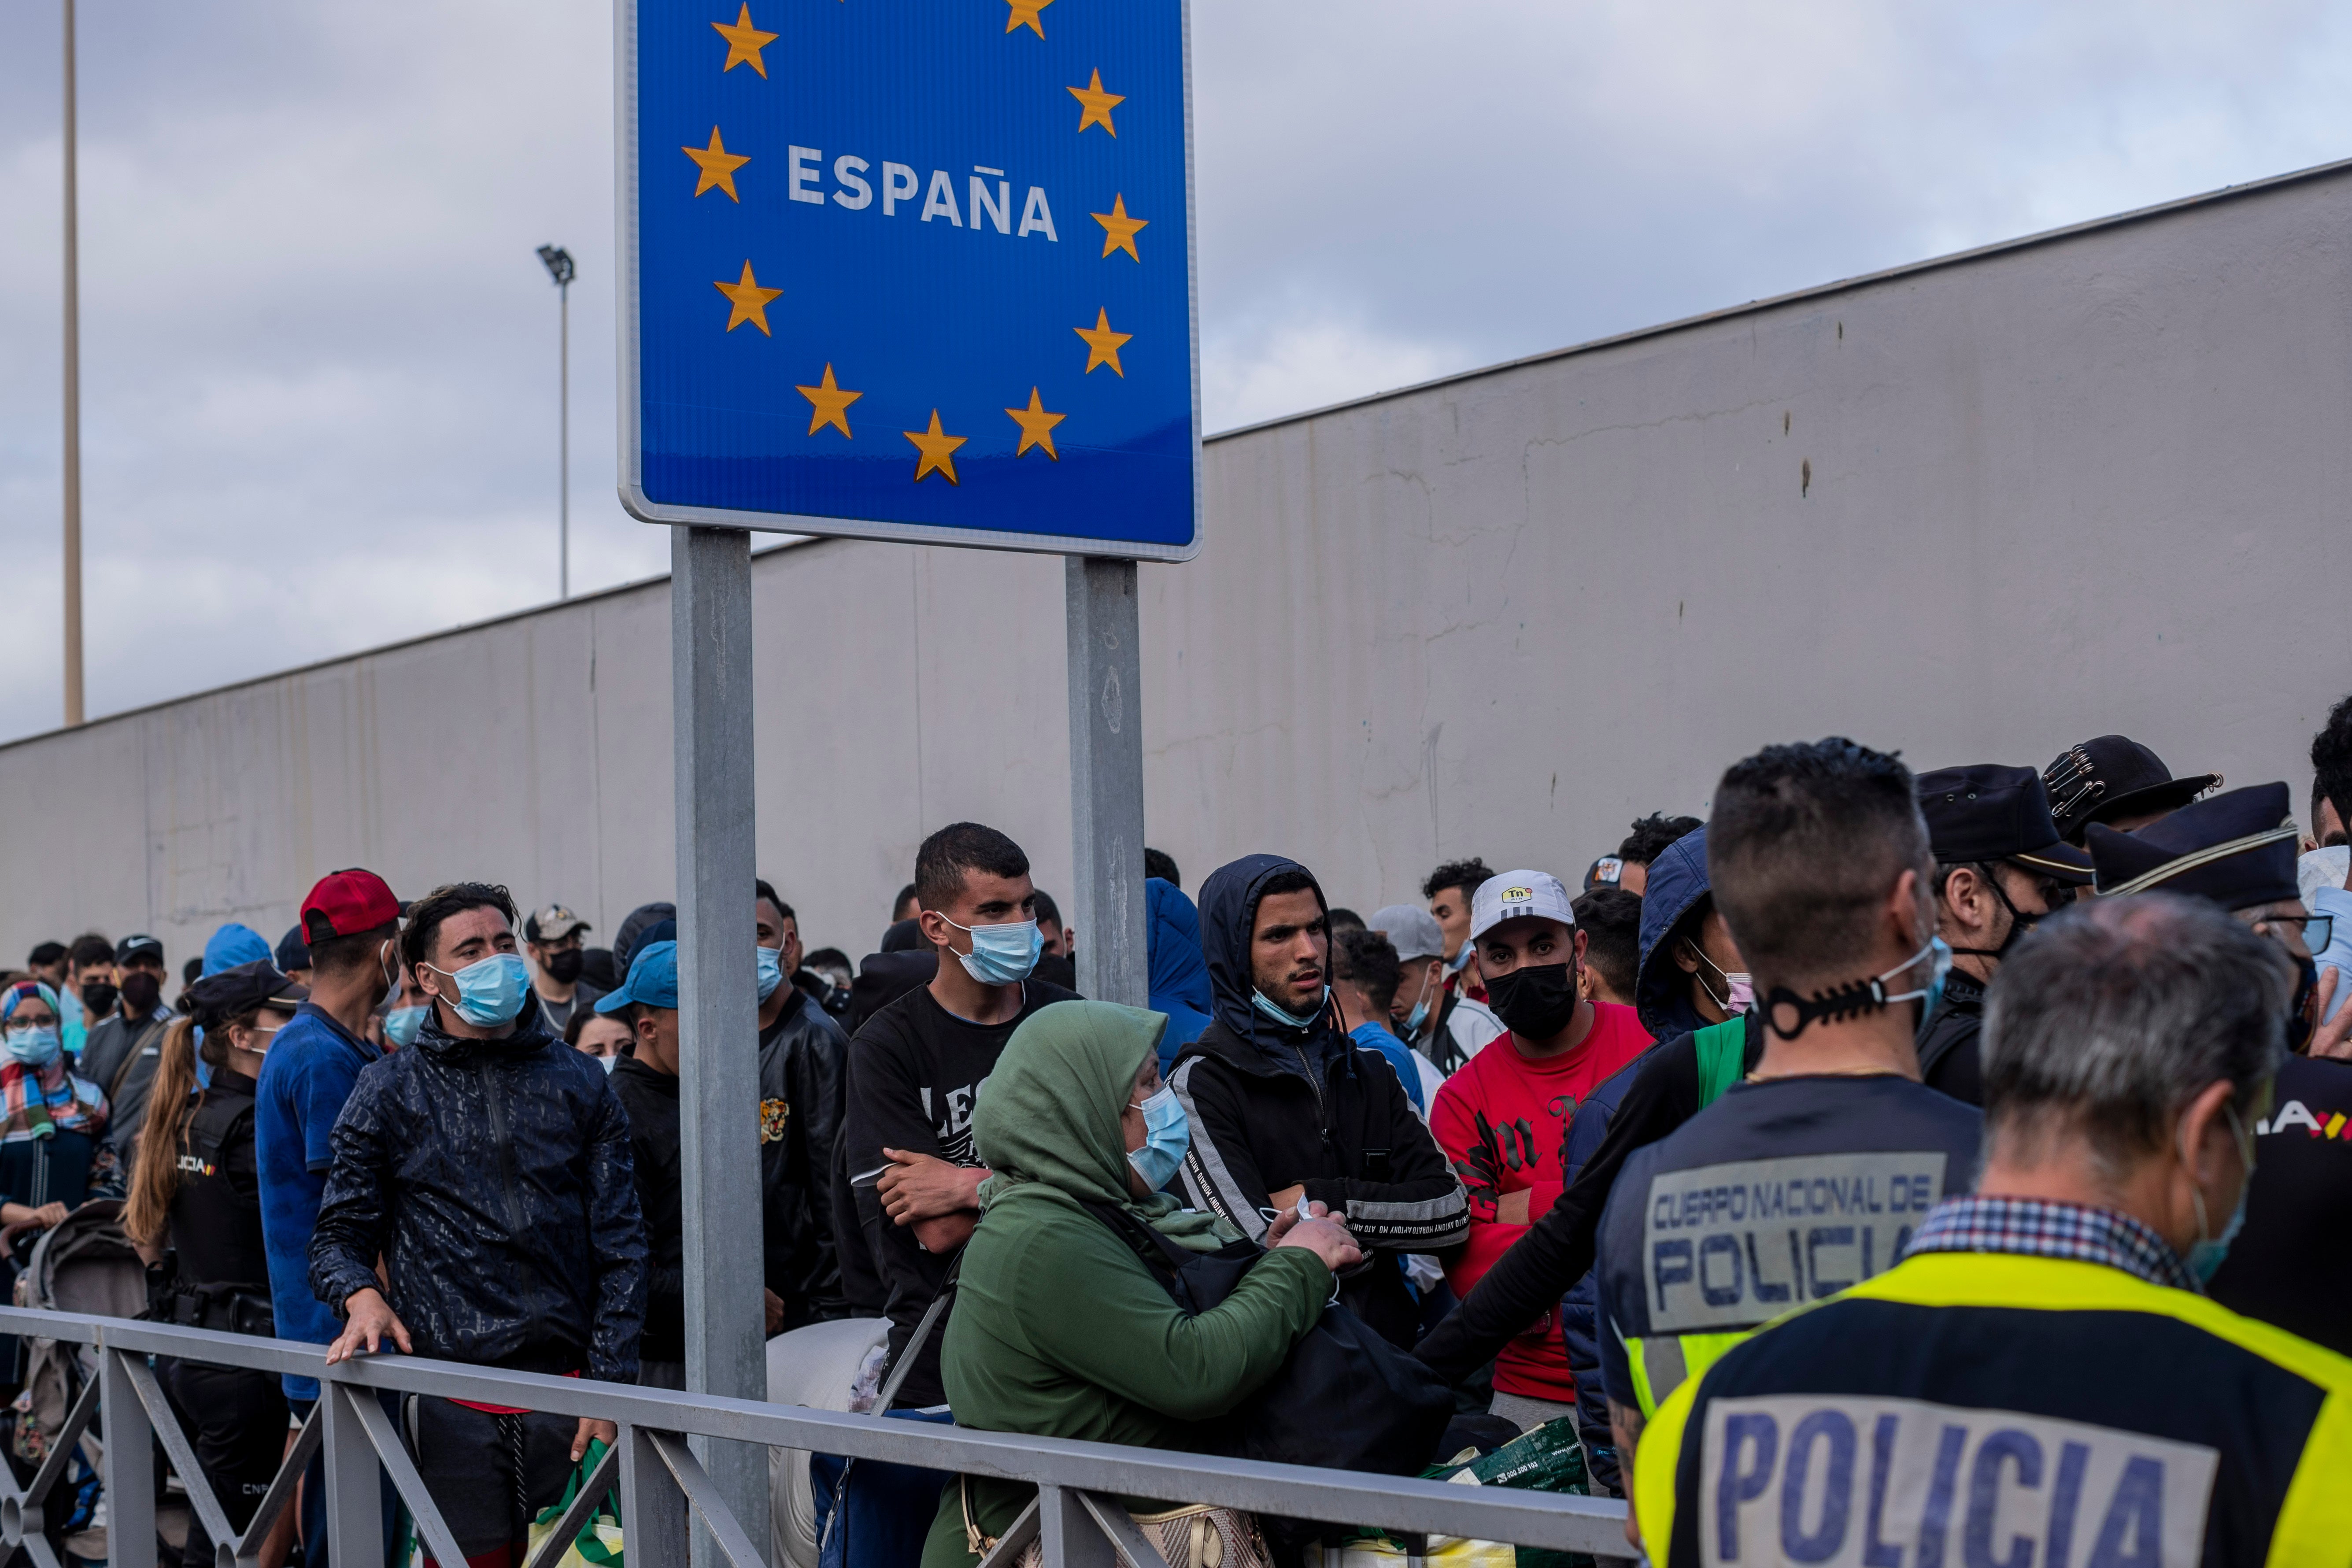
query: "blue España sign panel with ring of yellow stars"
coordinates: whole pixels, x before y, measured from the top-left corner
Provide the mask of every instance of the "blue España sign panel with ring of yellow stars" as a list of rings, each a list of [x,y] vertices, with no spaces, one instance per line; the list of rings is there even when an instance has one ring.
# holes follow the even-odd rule
[[[1200,550],[1183,0],[621,0],[621,501]]]

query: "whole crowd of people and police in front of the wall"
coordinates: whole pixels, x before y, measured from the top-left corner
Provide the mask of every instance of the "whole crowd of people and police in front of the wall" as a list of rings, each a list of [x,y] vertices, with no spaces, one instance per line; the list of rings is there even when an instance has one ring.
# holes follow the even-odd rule
[[[858,964],[757,882],[760,1328],[887,1319],[851,1408],[1312,1460],[1336,1309],[1315,1363],[1392,1399],[1331,1455],[1552,1427],[1658,1563],[2345,1561],[2347,823],[2352,698],[2305,823],[2124,736],[1771,745],[1705,820],[1371,914],[1145,851],[1145,1009],[1077,997],[1084,933],[978,823]],[[677,914],[590,936],[341,870],[176,987],[153,936],[42,943],[0,976],[5,1267],[94,1215],[153,1316],[682,1389]],[[318,1382],[158,1373],[242,1530]],[[400,1429],[477,1568],[614,1439]],[[967,1568],[1028,1500],[858,1486],[844,1568]]]

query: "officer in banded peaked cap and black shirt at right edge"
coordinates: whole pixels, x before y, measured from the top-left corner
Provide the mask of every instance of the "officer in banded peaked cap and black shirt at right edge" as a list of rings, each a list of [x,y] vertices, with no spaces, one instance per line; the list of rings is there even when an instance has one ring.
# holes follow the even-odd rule
[[[2246,1227],[2230,1265],[2213,1276],[2213,1300],[2352,1354],[2352,1063],[2345,1053],[2352,1009],[2319,1023],[2319,971],[2328,917],[2310,914],[2296,882],[2298,830],[2284,783],[2230,790],[2124,835],[2091,827],[2103,893],[2166,891],[2230,910],[2296,966],[2286,1020],[2293,1056],[2279,1067],[2277,1105],[2251,1124],[2260,1173],[2246,1197]],[[2328,1128],[2336,1128],[2336,1135]]]

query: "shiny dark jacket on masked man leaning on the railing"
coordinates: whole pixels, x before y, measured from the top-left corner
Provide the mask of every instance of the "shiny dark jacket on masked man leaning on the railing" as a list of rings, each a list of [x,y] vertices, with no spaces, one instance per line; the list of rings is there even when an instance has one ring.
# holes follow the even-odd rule
[[[369,1063],[334,1124],[310,1291],[343,1312],[376,1284],[421,1356],[637,1380],[644,1222],[628,1114],[604,1070],[524,999],[508,1039]]]

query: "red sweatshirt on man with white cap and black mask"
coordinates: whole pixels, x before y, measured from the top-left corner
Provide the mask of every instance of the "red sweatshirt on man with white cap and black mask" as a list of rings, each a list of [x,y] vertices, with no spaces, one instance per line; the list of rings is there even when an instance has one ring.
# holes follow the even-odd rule
[[[1592,1030],[1576,1048],[1529,1060],[1517,1037],[1505,1034],[1437,1091],[1430,1131],[1470,1192],[1470,1241],[1446,1265],[1456,1298],[1470,1295],[1496,1258],[1559,1199],[1559,1150],[1569,1119],[1588,1093],[1644,1051],[1649,1034],[1635,1011],[1595,1001]],[[1529,1225],[1496,1220],[1496,1199],[1505,1192],[1526,1192]],[[1557,1307],[1503,1347],[1494,1361],[1494,1387],[1522,1399],[1576,1399]]]

